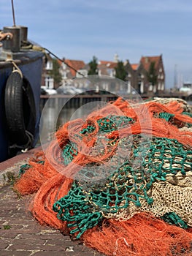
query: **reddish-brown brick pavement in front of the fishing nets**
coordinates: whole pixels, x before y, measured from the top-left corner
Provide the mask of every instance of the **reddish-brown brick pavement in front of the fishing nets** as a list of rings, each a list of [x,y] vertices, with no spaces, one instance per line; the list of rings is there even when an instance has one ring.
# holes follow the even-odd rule
[[[28,202],[28,197],[18,198],[11,185],[0,188],[1,256],[103,255],[58,230],[39,225],[26,210]]]

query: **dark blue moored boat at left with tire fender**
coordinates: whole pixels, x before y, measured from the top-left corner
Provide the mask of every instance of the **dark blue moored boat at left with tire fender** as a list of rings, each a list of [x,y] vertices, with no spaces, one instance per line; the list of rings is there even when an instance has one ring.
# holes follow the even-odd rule
[[[43,53],[22,48],[27,30],[0,31],[0,162],[33,148],[39,139]]]

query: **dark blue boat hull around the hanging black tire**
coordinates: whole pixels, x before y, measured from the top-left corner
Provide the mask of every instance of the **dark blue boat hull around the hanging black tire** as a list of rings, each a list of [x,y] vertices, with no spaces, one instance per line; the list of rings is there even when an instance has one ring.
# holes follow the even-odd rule
[[[42,80],[42,56],[40,52],[28,51],[18,53],[15,63],[23,73],[23,77],[28,80],[34,94],[36,109],[36,132],[34,135],[34,145],[39,138],[39,119],[40,119],[40,86]],[[4,93],[9,75],[12,73],[10,62],[0,61],[0,162],[9,157],[9,135],[7,133],[7,122],[5,116]],[[11,104],[11,102],[10,102]],[[16,110],[15,110],[16,111]]]

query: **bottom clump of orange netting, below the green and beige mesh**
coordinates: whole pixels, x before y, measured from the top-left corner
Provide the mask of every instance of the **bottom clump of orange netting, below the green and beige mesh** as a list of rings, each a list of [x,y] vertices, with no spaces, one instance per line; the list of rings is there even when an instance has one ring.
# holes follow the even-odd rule
[[[150,214],[140,213],[127,221],[105,219],[82,235],[82,241],[105,255],[189,255],[192,233]]]

